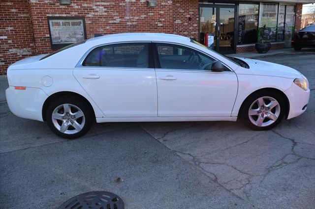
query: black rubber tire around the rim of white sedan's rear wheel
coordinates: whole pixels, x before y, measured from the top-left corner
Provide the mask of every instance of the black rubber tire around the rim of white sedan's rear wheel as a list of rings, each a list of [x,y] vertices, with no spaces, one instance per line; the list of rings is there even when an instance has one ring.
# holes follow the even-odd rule
[[[78,131],[78,132],[73,133],[73,134],[68,134],[68,133],[63,133],[63,132],[59,131],[55,127],[55,125],[52,121],[52,114],[53,114],[53,111],[55,110],[55,108],[57,108],[58,106],[60,106],[62,104],[72,104],[72,105],[79,107],[82,110],[84,117],[85,117],[85,123],[84,123],[84,126],[81,129],[81,131]],[[78,138],[78,137],[83,136],[84,134],[86,134],[90,130],[92,123],[94,121],[94,114],[92,111],[93,110],[91,109],[91,106],[89,104],[86,104],[86,102],[82,101],[80,98],[76,98],[76,97],[73,97],[71,95],[63,96],[61,98],[58,98],[57,100],[52,101],[48,105],[47,110],[46,110],[46,121],[47,121],[49,128],[54,133],[56,133],[58,136],[61,136],[63,138],[67,138],[67,139],[74,139],[74,138]],[[59,121],[59,122],[62,122],[62,121]],[[73,127],[71,129],[73,129]]]

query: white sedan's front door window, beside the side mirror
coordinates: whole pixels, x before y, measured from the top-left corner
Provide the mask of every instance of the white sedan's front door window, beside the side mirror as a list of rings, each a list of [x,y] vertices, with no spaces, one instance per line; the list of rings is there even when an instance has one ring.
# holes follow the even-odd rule
[[[157,44],[162,69],[205,70],[211,69],[214,59],[203,53],[172,44]]]

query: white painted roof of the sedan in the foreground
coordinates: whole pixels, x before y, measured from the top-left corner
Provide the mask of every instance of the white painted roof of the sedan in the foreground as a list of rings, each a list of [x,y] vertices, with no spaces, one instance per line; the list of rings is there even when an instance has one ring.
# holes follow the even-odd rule
[[[188,37],[168,33],[118,33],[90,38],[86,43],[98,45],[124,41],[166,41],[182,43],[189,42],[190,39]]]

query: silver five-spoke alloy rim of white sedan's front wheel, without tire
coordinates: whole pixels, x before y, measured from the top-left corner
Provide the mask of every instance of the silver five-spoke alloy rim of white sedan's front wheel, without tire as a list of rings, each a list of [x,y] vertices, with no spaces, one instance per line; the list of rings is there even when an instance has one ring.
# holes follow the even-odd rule
[[[248,111],[250,121],[258,127],[266,127],[277,121],[280,104],[272,97],[260,97],[255,100]]]

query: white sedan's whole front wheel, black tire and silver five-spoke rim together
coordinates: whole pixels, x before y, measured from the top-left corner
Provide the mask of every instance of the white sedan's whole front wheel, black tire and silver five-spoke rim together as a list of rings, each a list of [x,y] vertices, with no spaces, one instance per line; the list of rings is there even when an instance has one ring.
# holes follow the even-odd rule
[[[284,99],[277,92],[260,91],[242,105],[241,118],[252,130],[264,131],[277,126],[285,113]]]

